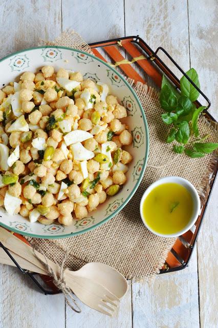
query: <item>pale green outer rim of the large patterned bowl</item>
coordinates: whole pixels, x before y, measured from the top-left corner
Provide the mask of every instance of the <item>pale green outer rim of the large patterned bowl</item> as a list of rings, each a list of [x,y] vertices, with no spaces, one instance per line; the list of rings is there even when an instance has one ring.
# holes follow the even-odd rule
[[[141,174],[140,174],[140,176],[139,176],[139,179],[138,179],[138,181],[137,181],[137,183],[136,183],[134,189],[132,190],[132,192],[130,193],[130,195],[128,195],[128,197],[125,199],[125,201],[121,204],[121,206],[118,207],[116,211],[114,211],[111,215],[107,216],[107,217],[106,217],[104,220],[102,220],[101,222],[98,222],[98,223],[94,224],[94,226],[89,227],[89,228],[86,228],[86,229],[84,229],[84,230],[82,230],[82,231],[78,231],[78,232],[74,232],[74,233],[72,232],[72,233],[70,233],[70,234],[65,234],[65,235],[62,235],[62,236],[54,236],[54,235],[53,235],[53,236],[51,236],[51,235],[46,236],[46,235],[35,235],[35,234],[31,234],[31,233],[23,232],[23,231],[19,231],[19,232],[18,232],[16,229],[14,229],[14,228],[12,228],[12,227],[9,228],[6,224],[0,222],[0,226],[4,227],[4,228],[6,228],[6,229],[10,229],[10,230],[13,231],[13,232],[19,233],[20,235],[29,236],[29,237],[34,237],[34,238],[43,238],[43,239],[59,239],[59,238],[66,238],[66,237],[72,237],[72,236],[80,235],[80,234],[83,234],[83,233],[85,233],[85,232],[91,231],[91,230],[93,230],[93,229],[95,229],[95,228],[97,228],[97,227],[100,227],[101,224],[103,224],[103,223],[107,222],[108,220],[112,219],[115,215],[117,215],[117,214],[118,214],[118,213],[119,213],[119,212],[120,212],[120,211],[126,206],[126,204],[129,202],[129,200],[133,197],[133,195],[134,195],[135,192],[137,191],[137,189],[138,189],[138,187],[139,187],[139,185],[140,185],[140,182],[141,182],[141,180],[142,180],[142,177],[143,177],[143,175],[144,175],[144,172],[145,172],[145,168],[146,168],[146,164],[147,164],[147,159],[148,159],[148,151],[149,151],[149,133],[148,133],[148,124],[147,124],[147,119],[146,119],[146,116],[145,116],[144,110],[143,110],[142,105],[141,105],[141,103],[140,103],[140,101],[139,101],[139,98],[138,98],[138,96],[136,95],[136,93],[135,93],[135,91],[133,90],[133,88],[129,85],[129,83],[126,81],[126,79],[125,79],[125,78],[124,78],[124,77],[123,77],[118,71],[116,71],[111,65],[105,63],[105,61],[103,61],[102,59],[100,59],[100,58],[98,58],[98,57],[96,57],[96,56],[94,56],[94,55],[92,55],[92,54],[89,54],[89,53],[87,53],[87,52],[84,52],[84,51],[81,51],[81,50],[78,50],[78,49],[69,48],[69,47],[63,47],[63,46],[43,46],[43,47],[33,47],[33,48],[28,48],[28,49],[23,49],[23,50],[16,51],[16,52],[14,52],[14,53],[12,53],[12,54],[10,54],[10,55],[8,55],[8,56],[6,56],[6,57],[0,59],[0,63],[1,63],[3,60],[5,60],[5,59],[7,59],[7,58],[9,58],[9,57],[11,57],[11,56],[13,56],[13,55],[20,54],[20,53],[22,53],[22,52],[24,52],[24,51],[26,52],[26,51],[32,51],[32,50],[35,50],[35,49],[45,49],[45,48],[66,49],[66,50],[71,50],[71,51],[80,52],[80,53],[82,53],[82,54],[84,54],[84,55],[88,55],[88,56],[94,58],[95,60],[98,60],[101,64],[103,64],[104,66],[106,66],[106,67],[108,67],[109,69],[111,69],[114,73],[116,73],[116,74],[122,79],[122,81],[123,81],[124,84],[127,86],[127,88],[129,88],[129,89],[132,91],[132,93],[133,93],[133,95],[134,95],[134,97],[135,97],[135,99],[136,99],[136,101],[137,101],[137,103],[138,103],[138,105],[139,105],[139,108],[140,108],[140,110],[141,110],[142,117],[143,117],[143,121],[144,121],[144,125],[145,125],[145,133],[146,133],[146,152],[145,152],[145,157],[144,157],[143,167],[142,167]]]

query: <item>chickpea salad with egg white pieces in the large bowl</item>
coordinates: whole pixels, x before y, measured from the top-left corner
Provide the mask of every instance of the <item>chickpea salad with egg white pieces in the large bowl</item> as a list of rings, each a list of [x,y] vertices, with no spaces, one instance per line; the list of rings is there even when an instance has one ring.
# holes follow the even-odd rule
[[[126,109],[106,84],[44,66],[0,90],[0,206],[70,226],[126,182]]]

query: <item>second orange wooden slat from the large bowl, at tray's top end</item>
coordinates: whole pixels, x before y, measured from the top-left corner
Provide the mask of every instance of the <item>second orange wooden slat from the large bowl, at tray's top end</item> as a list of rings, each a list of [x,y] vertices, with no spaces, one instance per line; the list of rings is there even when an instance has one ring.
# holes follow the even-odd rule
[[[105,47],[104,51],[112,58],[114,61],[121,61],[125,58],[117,50],[115,46]],[[145,80],[135,71],[135,69],[130,64],[121,64],[119,65],[121,70],[130,78],[134,79],[135,82],[142,82],[145,84]]]

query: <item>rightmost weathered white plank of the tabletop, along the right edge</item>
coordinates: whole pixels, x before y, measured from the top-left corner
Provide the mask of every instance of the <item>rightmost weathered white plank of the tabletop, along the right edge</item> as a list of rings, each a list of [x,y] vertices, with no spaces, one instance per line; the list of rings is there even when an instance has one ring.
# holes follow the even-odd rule
[[[205,3],[189,1],[189,31],[191,66],[199,73],[202,90],[211,100],[210,113],[218,119],[218,19],[217,1]],[[203,226],[198,238],[198,270],[201,327],[217,327],[217,238],[218,181],[208,204]]]

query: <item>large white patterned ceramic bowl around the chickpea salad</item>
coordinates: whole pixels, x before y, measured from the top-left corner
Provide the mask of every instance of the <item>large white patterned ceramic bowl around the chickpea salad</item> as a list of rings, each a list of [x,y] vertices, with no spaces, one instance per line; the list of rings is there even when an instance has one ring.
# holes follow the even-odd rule
[[[148,157],[148,127],[143,108],[134,90],[126,80],[110,65],[85,52],[66,47],[39,47],[13,53],[0,60],[0,89],[10,81],[18,81],[25,71],[36,72],[45,65],[54,66],[57,71],[64,68],[80,71],[84,79],[101,81],[110,87],[126,108],[126,122],[133,135],[133,145],[126,149],[133,155],[133,161],[127,172],[127,182],[122,190],[92,212],[89,217],[74,221],[72,226],[61,224],[45,226],[38,222],[30,223],[20,215],[10,216],[3,207],[0,208],[1,226],[23,235],[40,238],[63,238],[78,235],[94,229],[115,216],[127,204],[136,192],[143,177]]]

